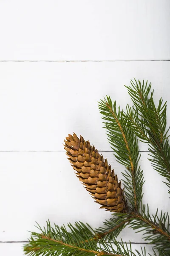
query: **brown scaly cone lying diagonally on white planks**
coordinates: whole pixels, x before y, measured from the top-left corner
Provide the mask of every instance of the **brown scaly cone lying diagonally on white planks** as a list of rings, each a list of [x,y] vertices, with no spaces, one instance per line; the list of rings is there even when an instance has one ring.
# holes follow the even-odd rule
[[[121,181],[118,183],[117,175],[107,159],[91,146],[89,141],[80,139],[74,133],[68,135],[65,141],[65,150],[77,177],[85,185],[92,197],[102,207],[114,212],[123,212],[125,209],[124,189]]]

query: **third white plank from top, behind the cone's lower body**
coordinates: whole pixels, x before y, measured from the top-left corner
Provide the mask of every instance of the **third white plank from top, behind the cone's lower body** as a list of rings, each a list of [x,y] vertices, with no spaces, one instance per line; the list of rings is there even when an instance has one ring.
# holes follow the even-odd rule
[[[111,152],[103,152],[119,179],[124,168]],[[142,152],[144,169],[144,203],[150,213],[157,207],[168,211],[170,201],[162,177],[154,171]],[[0,152],[0,241],[26,241],[27,230],[37,230],[46,220],[58,225],[84,221],[99,227],[111,212],[99,209],[74,174],[64,152]],[[163,200],[162,200],[163,198]],[[144,242],[141,233],[125,229],[123,241]]]

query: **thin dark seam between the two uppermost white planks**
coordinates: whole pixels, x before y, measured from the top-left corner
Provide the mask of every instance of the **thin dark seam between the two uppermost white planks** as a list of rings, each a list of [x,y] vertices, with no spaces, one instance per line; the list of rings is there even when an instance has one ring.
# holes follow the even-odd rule
[[[170,61],[170,59],[158,59],[158,60],[0,60],[0,62],[119,62],[119,61]]]

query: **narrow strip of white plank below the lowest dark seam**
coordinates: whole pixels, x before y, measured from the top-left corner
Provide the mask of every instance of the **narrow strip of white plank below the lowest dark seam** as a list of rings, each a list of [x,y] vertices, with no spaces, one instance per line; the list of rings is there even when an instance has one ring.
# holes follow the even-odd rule
[[[1,243],[0,244],[0,252],[3,256],[24,256],[23,253],[23,245],[25,243]],[[145,247],[147,253],[152,253],[152,248],[148,244],[132,244],[132,250],[135,252],[135,250],[139,250],[141,252],[141,246],[142,248]]]

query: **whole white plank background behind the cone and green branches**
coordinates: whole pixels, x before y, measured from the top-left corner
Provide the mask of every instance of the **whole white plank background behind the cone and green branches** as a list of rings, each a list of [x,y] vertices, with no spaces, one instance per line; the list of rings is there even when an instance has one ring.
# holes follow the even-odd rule
[[[62,143],[82,134],[121,178],[97,102],[107,94],[125,107],[133,77],[168,101],[170,125],[169,0],[0,0],[0,255],[23,256],[35,221],[98,227],[111,216],[79,183]],[[163,179],[140,150],[144,202],[168,211]],[[145,242],[127,228],[120,237],[136,249]]]

